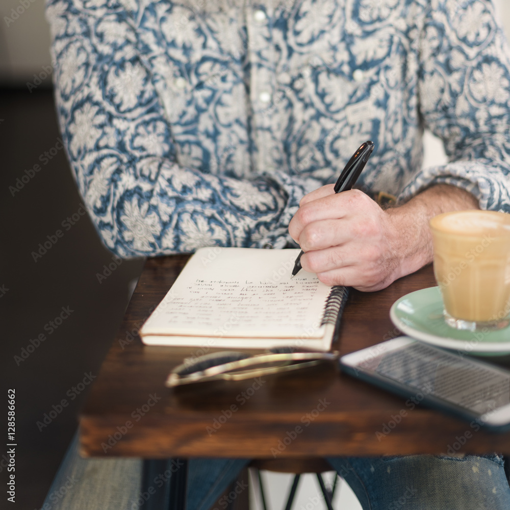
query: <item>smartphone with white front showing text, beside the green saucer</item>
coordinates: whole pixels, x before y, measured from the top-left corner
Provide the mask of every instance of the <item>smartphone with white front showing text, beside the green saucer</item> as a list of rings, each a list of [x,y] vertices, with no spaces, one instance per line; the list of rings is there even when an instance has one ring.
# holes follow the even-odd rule
[[[410,337],[398,337],[342,356],[344,372],[469,420],[510,429],[510,371]],[[414,405],[413,405],[414,407]]]

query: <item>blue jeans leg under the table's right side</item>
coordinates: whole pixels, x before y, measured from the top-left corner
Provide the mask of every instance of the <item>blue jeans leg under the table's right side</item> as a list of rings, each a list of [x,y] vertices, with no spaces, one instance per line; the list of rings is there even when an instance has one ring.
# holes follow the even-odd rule
[[[328,458],[363,510],[502,510],[510,487],[498,455]]]

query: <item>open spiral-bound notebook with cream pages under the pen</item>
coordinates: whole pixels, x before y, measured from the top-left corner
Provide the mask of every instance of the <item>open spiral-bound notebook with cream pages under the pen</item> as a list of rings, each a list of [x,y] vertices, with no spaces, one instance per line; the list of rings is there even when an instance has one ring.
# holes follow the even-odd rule
[[[148,345],[329,350],[345,287],[301,269],[299,249],[198,249],[140,330]]]

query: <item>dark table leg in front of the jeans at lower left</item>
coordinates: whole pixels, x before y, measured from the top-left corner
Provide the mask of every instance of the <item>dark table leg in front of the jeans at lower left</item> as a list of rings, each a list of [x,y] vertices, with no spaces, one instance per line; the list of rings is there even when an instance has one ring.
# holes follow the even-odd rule
[[[172,469],[179,466],[179,469]],[[140,508],[143,510],[186,510],[188,461],[182,458],[143,461]]]

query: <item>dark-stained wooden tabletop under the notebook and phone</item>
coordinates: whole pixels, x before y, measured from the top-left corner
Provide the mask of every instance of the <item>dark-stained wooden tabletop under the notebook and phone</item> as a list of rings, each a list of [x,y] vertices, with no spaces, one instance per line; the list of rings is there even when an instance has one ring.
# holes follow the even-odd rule
[[[83,455],[272,459],[448,453],[449,448],[450,453],[510,452],[510,432],[477,430],[439,411],[411,409],[405,399],[342,374],[335,364],[166,388],[173,367],[208,347],[144,346],[137,332],[187,259],[147,260],[80,416]],[[427,266],[385,290],[352,291],[335,347],[345,354],[398,336],[389,316],[393,302],[433,285]]]

